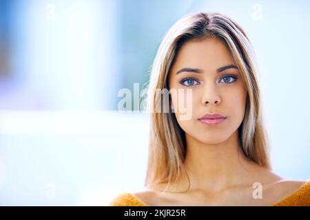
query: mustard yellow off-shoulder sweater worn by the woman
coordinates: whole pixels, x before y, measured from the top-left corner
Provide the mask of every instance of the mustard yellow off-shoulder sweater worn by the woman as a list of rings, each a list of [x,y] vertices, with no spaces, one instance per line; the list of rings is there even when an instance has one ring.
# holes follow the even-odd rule
[[[116,196],[109,206],[149,206],[130,192]],[[296,192],[273,206],[310,206],[310,180],[302,184]]]

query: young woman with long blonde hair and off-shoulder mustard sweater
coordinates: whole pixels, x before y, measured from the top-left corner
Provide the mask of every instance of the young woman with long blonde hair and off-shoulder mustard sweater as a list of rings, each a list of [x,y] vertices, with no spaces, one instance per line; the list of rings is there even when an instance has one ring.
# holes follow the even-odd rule
[[[309,206],[310,181],[271,171],[256,74],[251,43],[236,22],[205,12],[177,21],[149,81],[145,188],[110,205]],[[158,89],[174,91],[168,102]]]

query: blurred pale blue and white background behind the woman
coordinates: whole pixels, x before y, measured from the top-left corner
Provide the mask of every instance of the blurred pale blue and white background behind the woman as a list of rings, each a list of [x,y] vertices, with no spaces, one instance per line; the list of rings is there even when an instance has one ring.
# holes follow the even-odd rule
[[[105,206],[143,188],[149,122],[136,102],[165,32],[221,12],[260,67],[271,162],[310,179],[309,1],[0,1],[0,205]]]

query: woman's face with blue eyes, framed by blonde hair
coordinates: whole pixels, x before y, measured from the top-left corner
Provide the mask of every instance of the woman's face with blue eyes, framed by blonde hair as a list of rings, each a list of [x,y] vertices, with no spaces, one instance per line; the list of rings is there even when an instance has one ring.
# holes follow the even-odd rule
[[[169,89],[176,91],[171,94],[178,124],[200,142],[223,142],[242,123],[247,91],[229,50],[216,37],[182,45],[169,74]],[[198,119],[206,113],[226,118],[220,124],[205,124]]]

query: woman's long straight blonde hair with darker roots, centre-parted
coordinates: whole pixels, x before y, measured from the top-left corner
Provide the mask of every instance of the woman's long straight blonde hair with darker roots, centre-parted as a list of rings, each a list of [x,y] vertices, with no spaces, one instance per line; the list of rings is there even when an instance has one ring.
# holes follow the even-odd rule
[[[161,183],[168,183],[169,186],[179,177],[186,176],[188,179],[183,167],[186,155],[185,133],[178,125],[170,105],[169,112],[156,112],[158,103],[163,103],[156,89],[169,89],[169,71],[184,43],[191,39],[214,36],[229,48],[247,89],[245,117],[238,128],[242,153],[252,162],[271,168],[267,152],[269,142],[260,108],[255,54],[249,38],[236,22],[223,14],[196,12],[187,14],[169,29],[152,64],[147,87],[147,112],[150,112],[151,126],[145,186]]]

